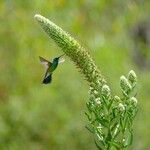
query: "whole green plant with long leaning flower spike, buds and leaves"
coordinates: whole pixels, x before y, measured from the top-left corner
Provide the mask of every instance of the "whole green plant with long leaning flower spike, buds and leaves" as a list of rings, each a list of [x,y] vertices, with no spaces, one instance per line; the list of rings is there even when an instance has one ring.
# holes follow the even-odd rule
[[[132,144],[133,120],[138,110],[135,72],[131,70],[127,78],[120,77],[122,96],[113,96],[89,53],[74,38],[41,15],[35,15],[35,20],[70,57],[90,85],[86,128],[94,135],[97,148],[126,149]]]

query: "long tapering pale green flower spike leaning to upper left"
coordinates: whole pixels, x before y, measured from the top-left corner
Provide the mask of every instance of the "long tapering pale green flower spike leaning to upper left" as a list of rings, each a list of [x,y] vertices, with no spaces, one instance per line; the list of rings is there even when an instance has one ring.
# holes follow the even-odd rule
[[[71,58],[75,65],[84,74],[86,80],[94,88],[102,87],[106,82],[95,65],[89,53],[67,32],[41,15],[35,15],[44,31],[52,38],[62,51]]]

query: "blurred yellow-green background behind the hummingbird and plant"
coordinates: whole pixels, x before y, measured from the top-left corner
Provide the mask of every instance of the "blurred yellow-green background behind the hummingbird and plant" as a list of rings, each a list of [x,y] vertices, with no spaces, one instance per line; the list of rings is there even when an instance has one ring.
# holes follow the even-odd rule
[[[119,77],[138,75],[140,110],[131,149],[150,147],[148,0],[0,0],[0,150],[91,150],[85,129],[88,86],[68,58],[42,85],[38,56],[62,54],[34,20],[39,13],[90,51],[114,94]],[[117,93],[118,94],[118,93]]]

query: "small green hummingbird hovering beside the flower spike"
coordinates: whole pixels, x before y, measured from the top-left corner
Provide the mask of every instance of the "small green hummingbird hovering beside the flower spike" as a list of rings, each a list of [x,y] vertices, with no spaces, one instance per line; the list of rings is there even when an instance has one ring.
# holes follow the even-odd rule
[[[64,54],[63,54],[64,55]],[[46,60],[45,58],[39,56],[40,62],[45,66],[46,73],[44,79],[42,81],[43,84],[49,84],[52,81],[52,74],[54,70],[57,68],[59,63],[63,63],[65,59],[62,58],[63,55],[59,57],[55,57],[52,62]]]

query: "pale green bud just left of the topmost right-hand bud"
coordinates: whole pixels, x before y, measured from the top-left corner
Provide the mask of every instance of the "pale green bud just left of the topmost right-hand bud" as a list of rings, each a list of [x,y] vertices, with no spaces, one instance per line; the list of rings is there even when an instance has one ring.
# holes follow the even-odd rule
[[[123,91],[127,92],[131,90],[131,85],[128,82],[127,78],[125,76],[120,77],[120,87],[122,88]]]

